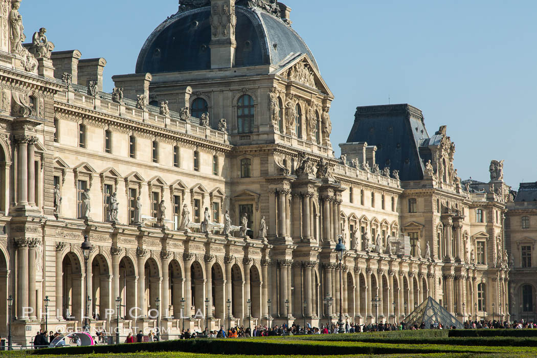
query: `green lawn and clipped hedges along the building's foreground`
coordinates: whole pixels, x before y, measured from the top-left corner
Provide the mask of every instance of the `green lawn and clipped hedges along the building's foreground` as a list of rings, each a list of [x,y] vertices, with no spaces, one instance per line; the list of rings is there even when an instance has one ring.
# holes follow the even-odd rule
[[[494,337],[496,334],[496,337]],[[467,337],[458,337],[466,335]],[[487,337],[475,337],[487,335]],[[455,336],[455,337],[451,337]],[[534,336],[534,337],[527,337]],[[249,339],[195,339],[114,346],[2,352],[21,358],[56,357],[533,357],[537,330],[405,331]]]

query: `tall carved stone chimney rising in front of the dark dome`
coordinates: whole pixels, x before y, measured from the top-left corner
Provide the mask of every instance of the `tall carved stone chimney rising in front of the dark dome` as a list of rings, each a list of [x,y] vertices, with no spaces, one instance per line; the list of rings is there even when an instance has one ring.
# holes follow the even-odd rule
[[[211,0],[211,68],[235,65],[235,0]]]

